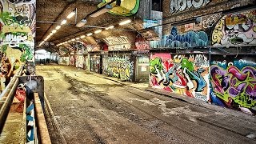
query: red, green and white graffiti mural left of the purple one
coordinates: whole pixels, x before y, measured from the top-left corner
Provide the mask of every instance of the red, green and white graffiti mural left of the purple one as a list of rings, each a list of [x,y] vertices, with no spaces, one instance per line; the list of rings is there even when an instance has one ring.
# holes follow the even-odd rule
[[[207,102],[208,69],[204,54],[151,54],[150,86]]]

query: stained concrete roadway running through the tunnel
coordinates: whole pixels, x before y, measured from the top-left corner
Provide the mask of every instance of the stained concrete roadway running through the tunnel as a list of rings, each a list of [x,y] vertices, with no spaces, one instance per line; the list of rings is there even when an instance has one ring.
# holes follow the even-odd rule
[[[36,69],[66,143],[256,143],[252,115],[72,66]]]

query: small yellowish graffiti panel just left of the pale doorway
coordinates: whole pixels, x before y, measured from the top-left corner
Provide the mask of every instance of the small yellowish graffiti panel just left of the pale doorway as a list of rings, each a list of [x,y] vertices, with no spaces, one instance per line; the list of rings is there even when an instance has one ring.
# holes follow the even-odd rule
[[[134,75],[134,62],[130,61],[130,56],[124,55],[103,58],[103,74],[131,81]]]

